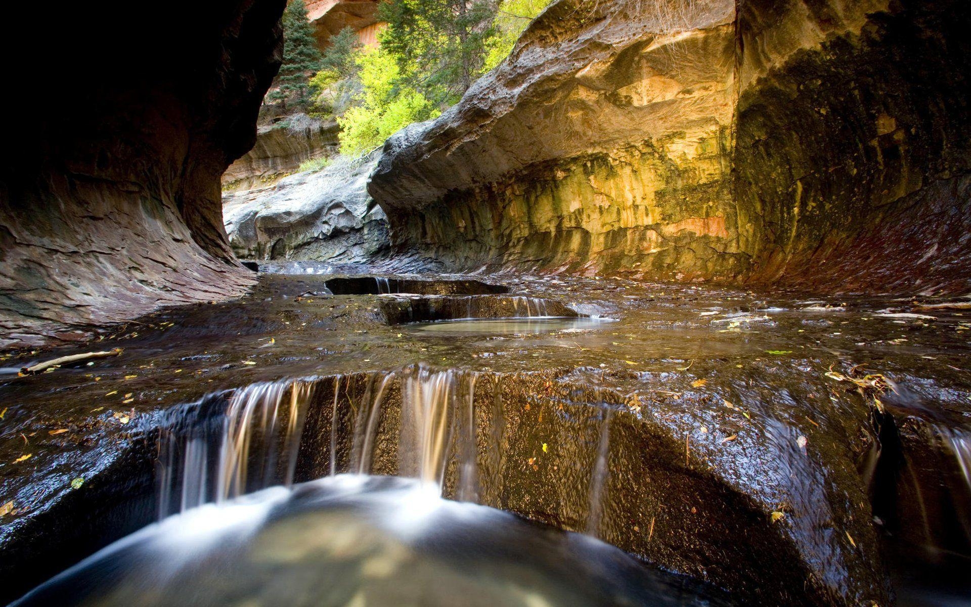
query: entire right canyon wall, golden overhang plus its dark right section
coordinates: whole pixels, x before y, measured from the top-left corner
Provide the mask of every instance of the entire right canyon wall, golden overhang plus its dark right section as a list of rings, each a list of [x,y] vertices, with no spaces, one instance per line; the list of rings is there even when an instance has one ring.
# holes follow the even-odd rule
[[[372,194],[451,268],[966,289],[971,17],[844,4],[561,0]]]

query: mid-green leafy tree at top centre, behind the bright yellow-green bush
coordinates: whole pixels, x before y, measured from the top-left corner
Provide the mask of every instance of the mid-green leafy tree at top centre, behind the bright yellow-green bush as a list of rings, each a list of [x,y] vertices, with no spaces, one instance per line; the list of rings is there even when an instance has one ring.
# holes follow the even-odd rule
[[[406,83],[447,107],[485,73],[497,10],[498,0],[385,0],[381,46]]]

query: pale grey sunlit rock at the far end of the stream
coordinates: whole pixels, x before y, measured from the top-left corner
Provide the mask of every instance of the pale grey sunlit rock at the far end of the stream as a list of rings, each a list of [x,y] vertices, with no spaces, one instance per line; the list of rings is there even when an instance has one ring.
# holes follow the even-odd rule
[[[381,157],[340,158],[277,185],[223,196],[229,243],[240,257],[366,261],[388,243],[385,212],[367,192]]]

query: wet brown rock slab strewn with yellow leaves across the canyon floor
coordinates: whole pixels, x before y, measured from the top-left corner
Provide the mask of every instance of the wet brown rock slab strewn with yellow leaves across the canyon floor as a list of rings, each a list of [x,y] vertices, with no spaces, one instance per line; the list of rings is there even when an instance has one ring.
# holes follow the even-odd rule
[[[867,462],[889,444],[888,420],[911,445],[895,453],[933,454],[960,480],[955,452],[941,440],[943,431],[966,436],[969,419],[962,361],[971,324],[959,311],[901,317],[914,313],[912,302],[494,276],[476,280],[510,294],[471,297],[529,296],[617,321],[537,334],[437,334],[389,324],[388,306],[460,307],[469,296],[313,295],[339,277],[301,272],[264,274],[246,300],[145,317],[80,349],[124,348],[117,358],[4,376],[0,505],[11,512],[0,529],[0,567],[20,582],[3,598],[157,516],[162,428],[179,435],[211,420],[221,427],[240,388],[288,378],[320,378],[307,380],[314,394],[300,400],[301,480],[328,473],[332,453],[342,469],[361,460],[355,436],[368,423],[357,416],[383,385],[382,406],[366,416],[374,419],[368,465],[407,472],[402,386],[421,373],[451,372],[454,393],[469,396],[460,412],[472,415],[454,419],[475,422],[456,426],[474,429],[466,436],[475,440],[455,439],[451,461],[473,444],[477,466],[472,485],[447,466],[452,495],[588,530],[756,605],[887,604],[880,538],[897,523],[874,523],[872,493],[887,486],[870,482]],[[2,364],[16,370],[78,350]],[[885,376],[903,396],[851,381],[865,373]],[[288,396],[281,402],[286,409]],[[880,475],[909,474],[881,465]],[[470,487],[474,493],[462,492]],[[952,502],[967,489],[954,488],[921,495],[941,512],[960,510]],[[914,500],[898,493],[906,515]],[[965,546],[953,538],[950,549]]]

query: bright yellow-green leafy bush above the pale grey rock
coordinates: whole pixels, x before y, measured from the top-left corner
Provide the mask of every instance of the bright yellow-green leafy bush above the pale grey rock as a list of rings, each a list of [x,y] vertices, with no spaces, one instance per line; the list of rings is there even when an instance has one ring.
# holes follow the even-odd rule
[[[397,60],[384,48],[357,51],[362,92],[360,105],[337,118],[341,153],[369,152],[395,131],[441,112],[418,90],[404,82]]]

